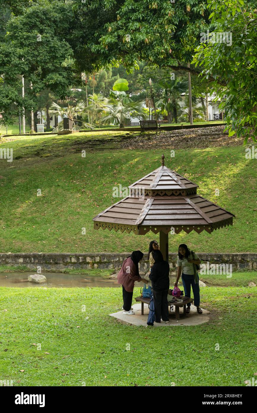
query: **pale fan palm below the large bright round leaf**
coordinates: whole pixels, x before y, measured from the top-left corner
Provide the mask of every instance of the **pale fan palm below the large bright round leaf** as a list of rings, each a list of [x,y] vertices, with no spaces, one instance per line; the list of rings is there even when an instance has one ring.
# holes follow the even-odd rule
[[[124,91],[111,90],[110,97],[104,97],[103,100],[104,111],[108,113],[108,115],[101,118],[104,125],[113,123],[123,128],[125,121],[129,120],[130,116],[136,117],[139,115],[143,119],[145,118],[144,102],[133,102]]]

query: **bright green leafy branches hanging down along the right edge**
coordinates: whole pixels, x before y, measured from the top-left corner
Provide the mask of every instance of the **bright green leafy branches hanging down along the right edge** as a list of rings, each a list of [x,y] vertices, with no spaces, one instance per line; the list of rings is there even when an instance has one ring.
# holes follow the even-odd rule
[[[231,32],[232,43],[202,43],[197,48],[195,63],[210,74],[212,92],[217,94],[225,109],[230,135],[257,137],[257,10],[253,2],[243,0],[209,0],[210,17],[215,33]],[[220,86],[220,81],[224,87]]]

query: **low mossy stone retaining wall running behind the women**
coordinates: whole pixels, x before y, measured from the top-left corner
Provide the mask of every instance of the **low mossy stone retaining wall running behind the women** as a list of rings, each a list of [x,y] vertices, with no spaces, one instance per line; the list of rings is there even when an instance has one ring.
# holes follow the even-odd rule
[[[100,268],[109,269],[117,272],[124,259],[130,253],[122,254],[0,254],[0,265],[20,266],[24,265],[33,271],[37,270],[37,266],[41,267],[41,271],[58,271],[65,268]],[[202,262],[209,261],[215,264],[232,264],[232,271],[257,271],[257,254],[255,253],[234,253],[234,254],[198,254]],[[169,262],[171,271],[174,272],[177,262],[177,254],[169,254]],[[139,263],[139,271],[146,273],[149,268],[147,254],[144,254],[143,260]]]

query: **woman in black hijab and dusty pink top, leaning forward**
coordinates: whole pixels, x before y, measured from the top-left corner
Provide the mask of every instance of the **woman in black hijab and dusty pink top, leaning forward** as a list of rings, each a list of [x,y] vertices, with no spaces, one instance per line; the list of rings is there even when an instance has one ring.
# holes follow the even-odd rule
[[[131,304],[135,281],[143,281],[145,284],[148,282],[139,275],[138,263],[143,256],[144,254],[141,251],[133,251],[132,254],[123,261],[118,273],[118,284],[122,284],[123,292],[123,314],[134,314]]]

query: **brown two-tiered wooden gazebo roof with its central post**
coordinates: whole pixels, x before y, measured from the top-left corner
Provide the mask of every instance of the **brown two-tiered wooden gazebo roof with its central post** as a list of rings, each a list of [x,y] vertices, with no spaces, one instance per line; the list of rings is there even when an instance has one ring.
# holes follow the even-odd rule
[[[213,230],[233,225],[233,214],[197,194],[198,185],[164,165],[130,185],[130,195],[98,214],[94,229],[160,233],[160,250],[168,261],[168,233]],[[141,196],[144,193],[144,197]],[[138,196],[140,195],[140,196]]]

